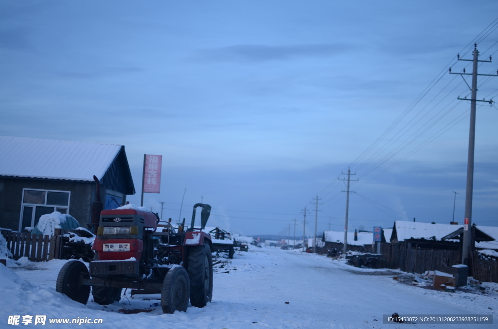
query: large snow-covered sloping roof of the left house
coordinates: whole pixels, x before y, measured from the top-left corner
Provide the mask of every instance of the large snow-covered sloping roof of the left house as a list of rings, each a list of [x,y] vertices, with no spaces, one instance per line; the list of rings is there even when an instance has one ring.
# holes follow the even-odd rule
[[[0,176],[102,179],[121,145],[0,136]]]

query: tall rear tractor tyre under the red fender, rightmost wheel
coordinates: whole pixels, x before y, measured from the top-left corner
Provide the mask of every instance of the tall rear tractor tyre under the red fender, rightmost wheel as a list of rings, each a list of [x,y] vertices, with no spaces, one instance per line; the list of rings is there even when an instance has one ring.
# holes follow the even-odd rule
[[[206,306],[213,297],[213,259],[211,248],[206,242],[203,246],[190,248],[188,276],[190,279],[190,303],[195,307]]]

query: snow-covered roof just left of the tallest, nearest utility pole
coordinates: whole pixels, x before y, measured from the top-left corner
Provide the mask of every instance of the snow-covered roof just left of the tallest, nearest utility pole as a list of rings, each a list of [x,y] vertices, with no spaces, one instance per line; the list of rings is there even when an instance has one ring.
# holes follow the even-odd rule
[[[394,229],[396,230],[396,237],[398,241],[406,239],[432,239],[436,240],[455,232],[463,225],[450,225],[450,224],[431,224],[421,222],[408,222],[408,221],[395,221]]]

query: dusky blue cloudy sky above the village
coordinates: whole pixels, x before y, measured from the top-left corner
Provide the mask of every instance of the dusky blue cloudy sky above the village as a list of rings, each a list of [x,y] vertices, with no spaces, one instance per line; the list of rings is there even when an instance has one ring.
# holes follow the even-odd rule
[[[144,206],[245,235],[463,222],[470,76],[496,1],[0,0],[0,135],[163,156]],[[476,18],[477,17],[477,18]],[[498,55],[495,55],[498,57]],[[480,74],[497,74],[480,63]],[[498,95],[479,77],[478,99]],[[498,226],[498,108],[479,102],[473,222]],[[453,192],[459,194],[455,194]],[[182,204],[182,197],[185,198]],[[454,198],[456,195],[456,199]],[[318,197],[318,212],[315,212]],[[180,214],[180,207],[182,212]],[[296,221],[294,222],[294,219]]]

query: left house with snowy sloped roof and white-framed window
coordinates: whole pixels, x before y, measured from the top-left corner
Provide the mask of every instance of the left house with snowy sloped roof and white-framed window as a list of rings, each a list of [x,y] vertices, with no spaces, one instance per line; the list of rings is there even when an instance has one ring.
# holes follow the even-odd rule
[[[0,227],[24,231],[58,211],[90,223],[97,176],[104,209],[135,187],[123,145],[0,136]]]

